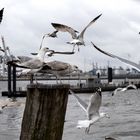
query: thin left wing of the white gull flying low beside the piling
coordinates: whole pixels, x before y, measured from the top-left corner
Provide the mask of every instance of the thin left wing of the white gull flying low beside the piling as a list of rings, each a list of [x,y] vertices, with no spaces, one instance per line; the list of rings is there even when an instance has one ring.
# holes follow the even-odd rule
[[[76,100],[78,101],[78,104],[80,105],[80,107],[87,112],[87,107],[88,105],[81,99],[79,98],[72,90],[69,90],[70,93],[76,98]]]

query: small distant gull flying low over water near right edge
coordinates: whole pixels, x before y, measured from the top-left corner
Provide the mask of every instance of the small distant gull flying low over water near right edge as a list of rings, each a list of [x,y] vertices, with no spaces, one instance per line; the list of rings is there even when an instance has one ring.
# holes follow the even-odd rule
[[[112,96],[114,96],[115,94],[117,94],[117,92],[125,92],[125,91],[130,90],[130,89],[137,89],[137,87],[135,85],[133,85],[133,84],[130,84],[130,85],[124,87],[124,88],[120,88],[120,87],[119,88],[116,88],[114,90],[114,92],[112,93]]]

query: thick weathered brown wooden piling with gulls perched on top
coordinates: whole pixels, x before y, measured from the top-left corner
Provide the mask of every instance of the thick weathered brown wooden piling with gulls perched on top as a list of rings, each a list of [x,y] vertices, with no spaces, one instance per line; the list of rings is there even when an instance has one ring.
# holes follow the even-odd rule
[[[61,140],[69,85],[27,86],[20,140]]]

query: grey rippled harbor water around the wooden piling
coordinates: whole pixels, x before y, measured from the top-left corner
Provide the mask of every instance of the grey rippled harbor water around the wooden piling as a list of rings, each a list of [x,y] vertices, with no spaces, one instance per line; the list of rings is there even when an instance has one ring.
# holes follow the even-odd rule
[[[0,82],[0,91],[6,90],[6,82]],[[26,87],[27,82],[19,82],[18,86]],[[65,117],[63,140],[104,140],[111,136],[117,140],[140,140],[140,91],[129,90],[111,96],[110,92],[102,92],[100,111],[106,112],[110,119],[103,118],[91,126],[89,134],[85,129],[77,129],[77,121],[86,119],[86,114],[79,107],[76,99],[69,95]],[[88,103],[91,94],[78,94]],[[0,101],[6,97],[0,97]],[[26,98],[17,98],[20,105],[3,109],[0,114],[0,140],[19,140],[22,116]]]

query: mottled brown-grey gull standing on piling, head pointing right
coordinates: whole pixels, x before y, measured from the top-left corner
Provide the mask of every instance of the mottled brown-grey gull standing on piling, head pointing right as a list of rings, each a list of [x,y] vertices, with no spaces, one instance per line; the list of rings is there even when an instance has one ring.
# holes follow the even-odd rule
[[[74,71],[80,72],[78,67],[75,65],[70,65],[69,63],[61,61],[51,61],[47,62],[39,72],[53,74],[57,79],[61,81],[61,76],[69,75]]]

